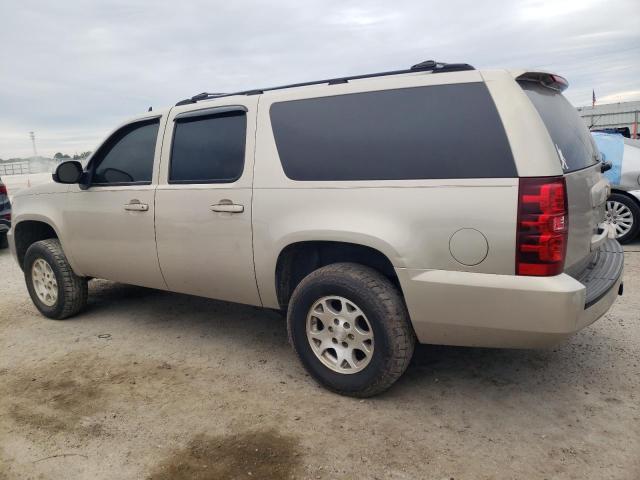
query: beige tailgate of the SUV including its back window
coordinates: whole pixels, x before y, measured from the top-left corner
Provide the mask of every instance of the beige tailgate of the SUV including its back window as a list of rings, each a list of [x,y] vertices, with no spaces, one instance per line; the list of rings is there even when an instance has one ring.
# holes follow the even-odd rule
[[[580,271],[606,238],[601,230],[609,184],[600,170],[600,155],[576,109],[557,90],[521,81],[553,141],[567,184],[569,241],[565,267]]]

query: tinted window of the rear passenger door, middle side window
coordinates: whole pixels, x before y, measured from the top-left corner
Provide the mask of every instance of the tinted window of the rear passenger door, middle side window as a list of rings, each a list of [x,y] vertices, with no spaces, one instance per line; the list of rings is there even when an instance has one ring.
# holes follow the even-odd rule
[[[242,175],[244,112],[178,119],[171,150],[171,183],[233,182]]]

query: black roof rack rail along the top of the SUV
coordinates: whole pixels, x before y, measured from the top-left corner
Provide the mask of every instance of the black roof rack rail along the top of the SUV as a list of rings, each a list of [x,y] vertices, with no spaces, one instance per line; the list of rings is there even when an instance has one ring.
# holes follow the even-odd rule
[[[461,72],[464,70],[475,70],[475,68],[469,65],[468,63],[443,63],[443,62],[436,62],[435,60],[427,60],[425,62],[417,63],[413,65],[411,68],[404,69],[404,70],[390,70],[387,72],[365,73],[362,75],[351,75],[348,77],[328,78],[324,80],[314,80],[311,82],[291,83],[288,85],[281,85],[278,87],[244,90],[241,92],[234,92],[234,93],[202,92],[202,93],[199,93],[198,95],[194,95],[191,98],[187,98],[185,100],[179,101],[178,103],[176,103],[176,106],[188,105],[190,103],[196,103],[200,100],[208,100],[212,98],[231,97],[234,95],[260,95],[261,93],[269,92],[273,90],[284,90],[286,88],[295,88],[295,87],[307,87],[310,85],[321,85],[323,83],[326,83],[327,85],[337,85],[341,83],[348,83],[350,80],[360,80],[363,78],[374,78],[374,77],[386,77],[389,75],[401,75],[403,73],[414,73],[414,72],[444,73],[444,72]]]

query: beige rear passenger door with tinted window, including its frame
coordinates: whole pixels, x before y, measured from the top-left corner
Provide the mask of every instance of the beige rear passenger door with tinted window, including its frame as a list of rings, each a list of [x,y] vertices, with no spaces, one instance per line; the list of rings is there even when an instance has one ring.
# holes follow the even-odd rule
[[[156,193],[158,257],[169,290],[261,304],[251,231],[256,107],[249,98],[171,111]]]

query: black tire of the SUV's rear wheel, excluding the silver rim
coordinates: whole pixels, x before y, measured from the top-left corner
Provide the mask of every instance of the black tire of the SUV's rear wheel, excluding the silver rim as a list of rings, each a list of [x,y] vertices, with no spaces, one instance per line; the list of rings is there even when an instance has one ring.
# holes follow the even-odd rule
[[[357,373],[331,370],[307,339],[307,315],[316,301],[341,296],[362,310],[374,335],[373,354]],[[336,263],[305,277],[289,301],[289,341],[300,361],[320,384],[342,395],[370,397],[387,390],[404,373],[413,356],[415,334],[398,289],[377,270],[355,263]]]

